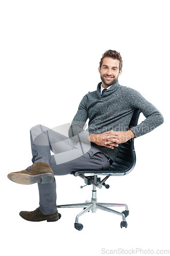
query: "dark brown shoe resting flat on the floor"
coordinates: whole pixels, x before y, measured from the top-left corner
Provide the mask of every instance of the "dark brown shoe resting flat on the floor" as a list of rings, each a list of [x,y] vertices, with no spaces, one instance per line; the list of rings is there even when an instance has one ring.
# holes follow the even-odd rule
[[[26,221],[58,221],[61,218],[61,214],[58,213],[58,210],[55,214],[52,215],[43,215],[40,211],[39,207],[33,211],[20,211],[20,217],[25,219]]]

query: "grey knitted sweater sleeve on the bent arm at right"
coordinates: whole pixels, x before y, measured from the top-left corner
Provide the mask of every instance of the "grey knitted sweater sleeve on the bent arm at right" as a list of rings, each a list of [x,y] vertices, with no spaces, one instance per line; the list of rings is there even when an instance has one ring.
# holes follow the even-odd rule
[[[128,98],[131,108],[139,109],[145,116],[144,121],[130,129],[134,133],[135,138],[153,131],[157,126],[163,123],[162,114],[139,92],[130,89]]]

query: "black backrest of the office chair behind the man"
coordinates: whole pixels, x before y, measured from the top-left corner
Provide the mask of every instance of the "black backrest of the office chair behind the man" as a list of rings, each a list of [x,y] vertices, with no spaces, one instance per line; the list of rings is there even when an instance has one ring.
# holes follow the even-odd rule
[[[140,110],[136,109],[133,113],[129,128],[137,125]],[[126,173],[132,170],[136,163],[136,155],[134,150],[134,138],[122,143],[115,161],[110,166],[109,170],[112,173]]]

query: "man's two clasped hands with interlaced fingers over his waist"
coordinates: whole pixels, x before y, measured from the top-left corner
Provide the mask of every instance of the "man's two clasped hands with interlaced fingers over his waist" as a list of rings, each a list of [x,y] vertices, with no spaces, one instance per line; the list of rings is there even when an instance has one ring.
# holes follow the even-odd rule
[[[113,149],[114,146],[117,147],[118,144],[124,143],[134,137],[135,135],[131,130],[119,132],[111,130],[109,132],[100,134],[90,134],[88,140],[97,145],[106,146]]]

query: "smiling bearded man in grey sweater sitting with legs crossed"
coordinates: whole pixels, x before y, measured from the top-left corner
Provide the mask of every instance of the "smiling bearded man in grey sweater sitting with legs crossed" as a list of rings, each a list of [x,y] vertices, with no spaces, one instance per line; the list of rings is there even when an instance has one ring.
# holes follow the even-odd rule
[[[39,207],[21,211],[28,221],[57,221],[54,175],[70,174],[79,169],[107,169],[115,160],[120,144],[151,132],[163,123],[161,113],[137,91],[120,86],[122,57],[116,51],[106,51],[100,61],[101,80],[96,91],[87,93],[70,125],[69,138],[43,125],[32,127],[33,165],[8,178],[20,184],[38,182]],[[146,117],[129,129],[135,109]],[[89,118],[88,129],[83,127]],[[51,156],[50,151],[54,153]]]

